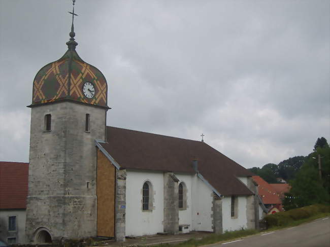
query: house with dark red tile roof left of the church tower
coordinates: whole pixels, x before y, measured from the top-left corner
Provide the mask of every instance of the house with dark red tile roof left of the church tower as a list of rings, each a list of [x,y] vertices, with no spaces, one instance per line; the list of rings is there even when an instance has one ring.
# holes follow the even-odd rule
[[[0,161],[0,240],[23,243],[28,163]]]

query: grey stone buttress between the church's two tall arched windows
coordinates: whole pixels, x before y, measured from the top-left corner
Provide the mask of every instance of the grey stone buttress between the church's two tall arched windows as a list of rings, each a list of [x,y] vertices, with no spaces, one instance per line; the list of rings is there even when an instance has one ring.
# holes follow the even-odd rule
[[[179,232],[179,180],[172,172],[164,172],[164,232]]]

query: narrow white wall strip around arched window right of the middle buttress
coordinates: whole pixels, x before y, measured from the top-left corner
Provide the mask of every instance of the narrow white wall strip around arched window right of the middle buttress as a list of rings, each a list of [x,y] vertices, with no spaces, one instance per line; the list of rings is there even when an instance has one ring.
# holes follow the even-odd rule
[[[192,227],[192,211],[191,211],[191,179],[192,175],[185,175],[185,174],[175,174],[176,177],[180,180],[179,183],[184,182],[187,188],[187,209],[180,210],[179,209],[179,225],[190,225],[190,230]]]

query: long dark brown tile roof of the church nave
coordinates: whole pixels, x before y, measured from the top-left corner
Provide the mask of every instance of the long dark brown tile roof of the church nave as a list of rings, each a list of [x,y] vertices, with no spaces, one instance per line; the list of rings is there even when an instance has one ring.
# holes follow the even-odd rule
[[[222,195],[251,195],[236,177],[253,173],[203,142],[107,127],[107,141],[102,146],[122,168],[194,173],[198,170]]]

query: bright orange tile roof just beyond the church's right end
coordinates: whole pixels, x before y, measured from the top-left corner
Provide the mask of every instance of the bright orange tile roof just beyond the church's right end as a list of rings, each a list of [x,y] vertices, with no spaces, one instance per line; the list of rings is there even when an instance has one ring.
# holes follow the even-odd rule
[[[252,179],[258,184],[258,192],[263,204],[282,204],[279,194],[273,186],[259,176],[253,176]]]

